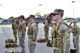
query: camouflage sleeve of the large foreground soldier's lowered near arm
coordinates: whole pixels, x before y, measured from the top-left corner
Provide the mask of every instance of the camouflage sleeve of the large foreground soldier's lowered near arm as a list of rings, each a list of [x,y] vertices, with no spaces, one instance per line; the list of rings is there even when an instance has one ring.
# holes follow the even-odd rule
[[[67,26],[64,26],[61,30],[61,34],[63,37],[63,44],[66,45],[66,49],[70,49],[70,36],[71,36],[71,30]]]

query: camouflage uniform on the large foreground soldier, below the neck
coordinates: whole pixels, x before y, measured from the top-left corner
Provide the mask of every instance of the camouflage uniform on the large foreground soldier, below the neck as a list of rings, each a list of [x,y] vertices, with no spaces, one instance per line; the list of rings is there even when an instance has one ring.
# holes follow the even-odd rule
[[[69,53],[69,35],[71,30],[64,23],[53,25],[52,37],[54,53]],[[68,47],[67,47],[68,46]]]

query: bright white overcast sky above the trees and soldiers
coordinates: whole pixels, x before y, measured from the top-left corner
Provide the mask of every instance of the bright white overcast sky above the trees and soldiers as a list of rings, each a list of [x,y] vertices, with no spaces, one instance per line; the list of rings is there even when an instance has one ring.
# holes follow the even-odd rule
[[[73,17],[73,12],[74,18],[80,17],[80,0],[0,0],[0,17],[24,15],[27,18],[37,12],[49,14],[56,8],[64,10],[64,17]]]

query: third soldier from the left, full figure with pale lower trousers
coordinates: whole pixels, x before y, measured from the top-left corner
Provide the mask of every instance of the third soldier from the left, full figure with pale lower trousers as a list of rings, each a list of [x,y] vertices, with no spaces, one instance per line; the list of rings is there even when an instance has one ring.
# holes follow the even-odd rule
[[[35,16],[31,15],[28,20],[28,32],[27,32],[29,53],[35,53],[37,33],[38,26],[35,21]]]

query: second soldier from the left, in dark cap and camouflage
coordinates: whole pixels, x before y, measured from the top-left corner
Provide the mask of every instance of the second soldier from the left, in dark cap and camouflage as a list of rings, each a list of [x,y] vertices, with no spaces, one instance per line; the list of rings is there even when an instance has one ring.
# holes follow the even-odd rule
[[[25,53],[25,32],[26,32],[26,22],[24,21],[24,16],[21,15],[19,17],[19,25],[18,25],[18,36],[19,36],[19,43],[22,47],[22,53]]]

